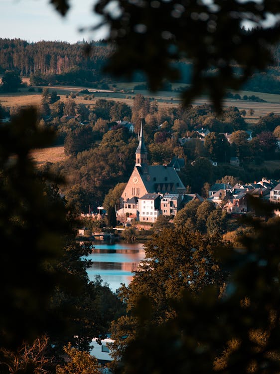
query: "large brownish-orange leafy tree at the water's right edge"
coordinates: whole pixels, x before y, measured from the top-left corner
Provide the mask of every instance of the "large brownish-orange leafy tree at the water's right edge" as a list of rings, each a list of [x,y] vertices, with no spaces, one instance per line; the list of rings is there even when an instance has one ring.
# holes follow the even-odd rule
[[[128,287],[123,285],[119,290],[127,303],[128,315],[112,324],[114,357],[119,357],[128,342],[150,328],[145,318],[135,317],[137,310],[149,316],[152,326],[160,326],[176,315],[168,300],[181,300],[186,290],[197,295],[207,285],[223,284],[226,274],[215,259],[218,247],[230,248],[218,238],[209,240],[187,228],[165,229],[153,235],[145,245],[140,270]]]

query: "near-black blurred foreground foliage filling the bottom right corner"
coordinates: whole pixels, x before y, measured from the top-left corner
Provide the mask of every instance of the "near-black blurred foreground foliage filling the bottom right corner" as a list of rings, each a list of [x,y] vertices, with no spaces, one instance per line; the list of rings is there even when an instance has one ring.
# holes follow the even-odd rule
[[[272,206],[255,203],[271,214]],[[186,291],[168,302],[176,316],[156,327],[151,303],[142,300],[145,309],[135,310],[142,329],[122,352],[117,373],[172,372],[174,362],[178,373],[279,372],[280,222],[246,223],[254,234],[241,238],[245,250],[223,252],[231,274],[222,294],[215,286],[194,296]]]

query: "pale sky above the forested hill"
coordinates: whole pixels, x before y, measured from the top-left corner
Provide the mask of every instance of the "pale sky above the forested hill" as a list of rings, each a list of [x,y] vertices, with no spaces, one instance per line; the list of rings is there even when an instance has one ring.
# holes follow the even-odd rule
[[[0,38],[20,38],[29,42],[56,40],[76,43],[99,40],[107,30],[79,32],[100,18],[93,9],[94,0],[70,0],[70,9],[62,17],[49,0],[0,0]]]

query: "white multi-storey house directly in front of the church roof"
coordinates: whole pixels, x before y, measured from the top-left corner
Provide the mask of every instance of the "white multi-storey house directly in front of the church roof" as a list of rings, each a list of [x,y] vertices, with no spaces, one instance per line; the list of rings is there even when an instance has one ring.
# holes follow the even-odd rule
[[[155,222],[160,215],[160,199],[158,193],[146,193],[138,200],[140,222]]]

